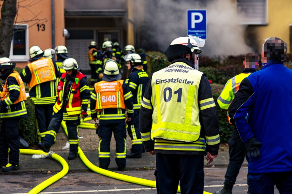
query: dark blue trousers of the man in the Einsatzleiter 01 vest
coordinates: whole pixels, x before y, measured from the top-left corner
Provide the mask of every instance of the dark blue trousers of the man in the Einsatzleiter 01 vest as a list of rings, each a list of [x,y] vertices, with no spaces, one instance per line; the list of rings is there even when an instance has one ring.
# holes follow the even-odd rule
[[[156,154],[157,193],[204,193],[204,155]]]

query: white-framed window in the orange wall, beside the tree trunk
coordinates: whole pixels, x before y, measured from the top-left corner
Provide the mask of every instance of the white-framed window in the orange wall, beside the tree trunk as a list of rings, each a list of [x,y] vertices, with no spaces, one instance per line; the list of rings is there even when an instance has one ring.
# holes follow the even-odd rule
[[[28,25],[17,24],[13,30],[9,58],[11,61],[26,62],[29,59],[28,50]]]

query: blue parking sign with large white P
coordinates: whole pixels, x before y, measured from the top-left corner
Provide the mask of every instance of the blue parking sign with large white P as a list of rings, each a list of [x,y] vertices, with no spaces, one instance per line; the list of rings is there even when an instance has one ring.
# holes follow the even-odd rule
[[[207,10],[187,10],[187,34],[207,39]]]

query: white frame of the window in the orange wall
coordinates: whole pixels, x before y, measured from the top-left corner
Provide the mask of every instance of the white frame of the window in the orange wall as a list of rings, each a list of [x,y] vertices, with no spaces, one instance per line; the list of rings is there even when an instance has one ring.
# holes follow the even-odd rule
[[[22,29],[25,29],[25,55],[24,54],[13,54],[13,39],[14,39],[14,34],[11,40],[11,45],[10,45],[10,53],[9,53],[9,58],[11,61],[15,62],[27,62],[29,59],[29,30],[28,30],[28,24],[15,24],[15,26],[21,26]]]

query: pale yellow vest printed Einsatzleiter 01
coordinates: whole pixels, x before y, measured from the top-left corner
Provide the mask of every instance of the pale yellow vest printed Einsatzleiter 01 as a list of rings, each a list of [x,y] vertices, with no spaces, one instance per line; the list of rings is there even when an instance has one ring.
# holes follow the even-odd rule
[[[151,139],[182,142],[199,139],[198,89],[202,75],[183,62],[175,62],[152,75]]]

